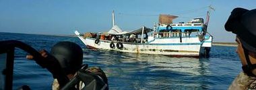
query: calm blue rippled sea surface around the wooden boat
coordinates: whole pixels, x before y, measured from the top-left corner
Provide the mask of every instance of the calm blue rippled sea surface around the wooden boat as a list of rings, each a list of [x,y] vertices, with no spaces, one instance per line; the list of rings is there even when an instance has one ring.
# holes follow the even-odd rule
[[[236,47],[212,47],[210,58],[177,58],[163,55],[120,53],[87,49],[77,37],[0,33],[1,40],[19,40],[35,49],[51,50],[58,41],[72,41],[84,51],[84,63],[101,67],[110,89],[227,89],[241,71]],[[51,89],[53,77],[26,52],[15,49],[13,89]],[[1,64],[1,63],[0,63]]]

